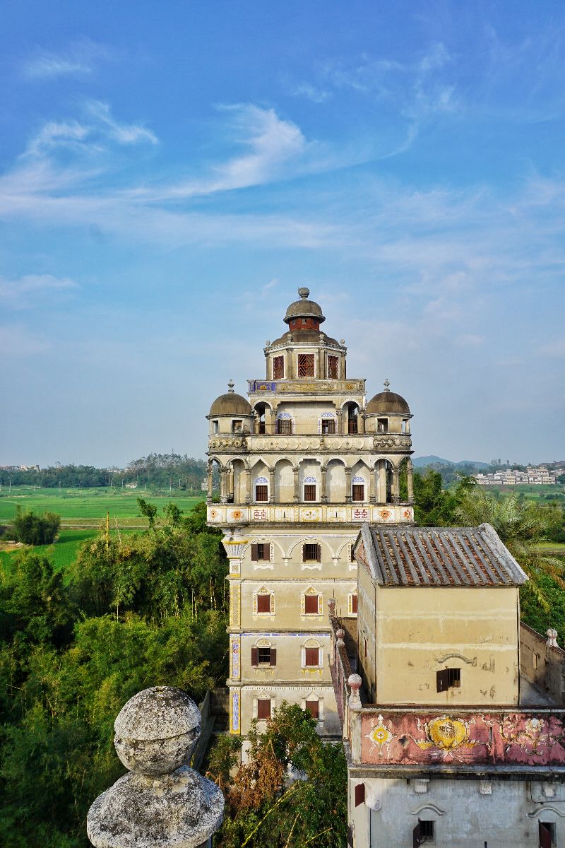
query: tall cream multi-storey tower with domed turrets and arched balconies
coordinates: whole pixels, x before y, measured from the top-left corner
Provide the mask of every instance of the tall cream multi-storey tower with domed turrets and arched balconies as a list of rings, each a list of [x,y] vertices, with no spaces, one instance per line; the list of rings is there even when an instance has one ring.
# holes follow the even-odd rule
[[[312,712],[320,734],[341,735],[328,605],[357,616],[362,522],[413,522],[407,402],[385,381],[367,403],[365,380],[346,375],[343,339],[320,329],[308,289],[298,293],[287,331],[264,349],[266,379],[248,381],[249,400],[230,383],[208,415],[208,524],[224,531],[230,558],[233,734],[287,700]]]

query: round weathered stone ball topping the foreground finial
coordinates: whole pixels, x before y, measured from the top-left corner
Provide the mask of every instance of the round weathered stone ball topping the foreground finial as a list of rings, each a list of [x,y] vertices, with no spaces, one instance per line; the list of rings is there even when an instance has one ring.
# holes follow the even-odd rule
[[[170,774],[188,762],[200,736],[200,722],[197,705],[182,689],[143,689],[114,722],[119,759],[136,774]]]

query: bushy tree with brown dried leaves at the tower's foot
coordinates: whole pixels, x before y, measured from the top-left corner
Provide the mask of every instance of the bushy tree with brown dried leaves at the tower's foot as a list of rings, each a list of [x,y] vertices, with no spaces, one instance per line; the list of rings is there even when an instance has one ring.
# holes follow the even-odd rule
[[[345,848],[347,764],[341,745],[324,744],[316,722],[285,702],[266,732],[249,734],[248,762],[230,780],[233,750],[211,756],[210,774],[224,785],[226,817],[218,848]],[[217,772],[214,773],[213,767]]]

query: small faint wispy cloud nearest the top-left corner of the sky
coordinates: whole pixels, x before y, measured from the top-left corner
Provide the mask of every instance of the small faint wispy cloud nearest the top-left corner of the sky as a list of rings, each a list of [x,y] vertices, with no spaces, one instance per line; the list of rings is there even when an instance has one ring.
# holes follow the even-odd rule
[[[37,47],[21,64],[23,75],[29,80],[53,80],[60,76],[89,76],[98,62],[108,60],[112,52],[108,47],[81,38],[60,51]]]

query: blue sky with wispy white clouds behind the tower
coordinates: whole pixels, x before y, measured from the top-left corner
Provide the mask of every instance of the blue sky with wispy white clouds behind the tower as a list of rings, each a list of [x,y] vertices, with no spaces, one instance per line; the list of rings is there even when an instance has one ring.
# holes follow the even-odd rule
[[[296,288],[417,455],[562,459],[562,2],[3,3],[0,464],[202,456]]]

